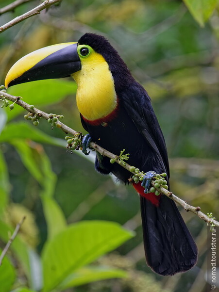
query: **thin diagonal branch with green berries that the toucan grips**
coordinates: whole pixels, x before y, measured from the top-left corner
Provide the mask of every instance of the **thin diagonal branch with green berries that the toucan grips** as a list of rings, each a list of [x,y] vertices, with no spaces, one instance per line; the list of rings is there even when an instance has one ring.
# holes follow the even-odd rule
[[[6,99],[10,100],[10,101],[13,101],[13,102],[17,103],[19,106],[21,106],[22,108],[24,108],[25,110],[27,110],[27,111],[29,111],[31,113],[37,114],[38,116],[41,116],[41,117],[45,118],[46,120],[49,119],[49,114],[47,114],[45,112],[42,112],[42,111],[36,109],[35,107],[34,107],[34,109],[32,109],[30,104],[28,104],[28,103],[24,102],[23,100],[21,100],[21,97],[15,97],[15,96],[12,96],[10,94],[7,94],[5,92],[0,91],[0,97],[2,97],[2,96],[5,97]],[[66,126],[65,124],[61,123],[60,121],[59,121],[59,124],[60,124],[60,129],[63,130],[65,133],[69,133],[71,135],[75,135],[76,133],[78,133],[78,131],[75,131],[75,130],[69,128],[68,126]],[[90,142],[89,146],[92,147],[95,151],[98,151],[101,155],[107,156],[110,159],[114,159],[115,162],[117,162],[117,163],[120,162],[119,159],[118,159],[118,155],[115,155],[115,154],[109,152],[108,150],[106,150],[106,149],[102,148],[101,146],[97,145],[96,143]],[[129,165],[128,163],[123,162],[120,165],[122,167],[124,167],[125,169],[127,169],[128,171],[130,171],[131,173],[133,173],[134,175],[136,175],[135,172],[132,172],[130,170],[132,166]],[[143,177],[144,175],[139,173],[139,176]],[[154,180],[152,180],[152,186],[154,186]],[[177,203],[180,206],[182,206],[185,211],[191,211],[194,214],[196,214],[197,216],[199,216],[202,220],[207,222],[208,224],[215,225],[215,226],[219,227],[219,222],[214,220],[213,218],[208,217],[204,213],[202,213],[200,211],[200,209],[201,209],[200,207],[194,207],[194,206],[191,206],[191,205],[187,204],[184,200],[180,199],[179,197],[177,197],[176,195],[172,194],[171,192],[169,192],[168,190],[166,190],[165,188],[163,188],[161,186],[159,188],[156,188],[156,190],[158,190],[160,193],[168,196],[168,198],[172,199],[175,203]]]

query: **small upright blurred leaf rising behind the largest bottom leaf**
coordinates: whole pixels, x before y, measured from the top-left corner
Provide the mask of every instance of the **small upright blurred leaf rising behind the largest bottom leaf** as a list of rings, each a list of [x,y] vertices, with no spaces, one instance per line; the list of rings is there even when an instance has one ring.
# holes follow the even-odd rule
[[[52,239],[56,234],[66,228],[66,219],[63,211],[53,198],[42,195],[41,199],[47,222],[48,239]]]

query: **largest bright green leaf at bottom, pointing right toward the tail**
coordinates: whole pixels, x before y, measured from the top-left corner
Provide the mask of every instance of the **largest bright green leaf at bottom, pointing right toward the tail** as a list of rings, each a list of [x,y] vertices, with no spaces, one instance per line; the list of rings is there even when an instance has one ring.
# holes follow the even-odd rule
[[[44,292],[69,274],[115,249],[133,236],[119,224],[83,221],[68,226],[47,242],[42,252]]]

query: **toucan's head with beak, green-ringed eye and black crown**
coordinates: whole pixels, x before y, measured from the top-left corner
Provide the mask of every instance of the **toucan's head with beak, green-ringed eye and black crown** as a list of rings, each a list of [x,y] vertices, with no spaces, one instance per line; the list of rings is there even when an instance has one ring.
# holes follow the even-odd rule
[[[77,43],[52,45],[24,56],[9,70],[5,86],[64,78],[102,62],[108,64],[114,80],[130,78],[127,66],[110,43],[101,35],[85,33]],[[73,77],[77,79],[77,74]]]

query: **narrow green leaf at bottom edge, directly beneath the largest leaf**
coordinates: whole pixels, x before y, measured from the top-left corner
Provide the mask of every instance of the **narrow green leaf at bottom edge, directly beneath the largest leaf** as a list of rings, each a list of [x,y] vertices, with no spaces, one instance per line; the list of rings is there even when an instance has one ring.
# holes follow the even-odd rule
[[[112,278],[124,278],[127,276],[126,271],[112,269],[105,266],[86,266],[80,268],[75,273],[69,275],[58,287],[59,290],[84,285],[94,281],[100,281]]]

